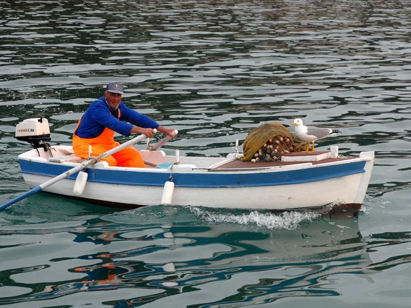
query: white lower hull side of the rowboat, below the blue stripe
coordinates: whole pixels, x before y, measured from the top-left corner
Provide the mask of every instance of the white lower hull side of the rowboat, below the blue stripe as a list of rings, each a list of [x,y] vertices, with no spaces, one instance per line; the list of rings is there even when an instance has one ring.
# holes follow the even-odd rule
[[[25,175],[30,188],[49,180],[49,177]],[[319,207],[328,204],[361,204],[357,199],[361,175],[346,176],[315,183],[303,183],[275,187],[237,188],[174,188],[171,205],[192,205],[225,208],[291,209]],[[73,194],[74,180],[62,180],[44,191],[76,197]],[[344,189],[341,189],[344,187]],[[113,198],[113,191],[116,198]],[[163,187],[129,186],[102,183],[87,183],[81,196],[85,199],[102,200],[135,205],[160,204]],[[297,195],[296,195],[296,192]]]

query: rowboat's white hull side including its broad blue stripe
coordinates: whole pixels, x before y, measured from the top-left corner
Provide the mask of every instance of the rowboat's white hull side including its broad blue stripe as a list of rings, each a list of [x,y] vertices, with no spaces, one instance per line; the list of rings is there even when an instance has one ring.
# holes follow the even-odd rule
[[[61,148],[63,152],[71,149],[65,146],[55,148]],[[161,151],[141,152],[144,160],[150,159],[155,164],[175,161],[175,157],[164,156]],[[72,162],[47,161],[47,157],[38,157],[36,150],[22,154],[19,156],[19,160],[24,180],[30,188],[50,180],[59,172],[61,173],[59,168],[62,166],[70,169],[77,165]],[[330,204],[360,207],[372,171],[373,152],[363,152],[359,158],[335,160],[321,164],[304,162],[267,168],[263,167],[263,164],[256,163],[253,164],[255,167],[252,168],[223,168],[223,163],[232,160],[227,158],[180,158],[180,164],[174,165],[172,172],[170,167],[168,169],[121,168],[96,164],[87,169],[90,176],[80,198],[101,204],[127,207],[158,205],[161,204],[163,184],[172,173],[175,188],[170,205],[273,210],[314,208]],[[31,167],[34,163],[35,166]],[[350,167],[353,163],[362,164],[364,167],[361,167],[361,170],[353,169]],[[52,172],[53,168],[56,168],[54,173]],[[350,171],[351,174],[343,172],[350,168],[353,169]],[[48,172],[51,174],[42,175],[42,169],[45,170],[45,174]],[[99,171],[101,170],[109,171],[109,176],[105,174],[106,179],[100,177]],[[278,174],[278,172],[282,173]],[[304,175],[302,179],[298,177],[300,172],[304,172],[301,173]],[[335,172],[335,175],[332,172]],[[115,179],[117,174],[121,174],[121,180],[118,182],[111,180]],[[284,178],[284,183],[275,183],[271,180],[267,180],[267,183],[261,181],[261,178],[270,179],[270,177],[278,177],[278,175],[281,175],[280,179]],[[311,175],[315,178],[305,181],[305,177]],[[164,180],[158,180],[158,177],[162,177]],[[190,177],[193,177],[193,180]],[[236,177],[238,177],[238,181]],[[147,183],[131,182],[132,179],[136,178],[147,178]],[[190,180],[184,182],[187,178]],[[226,178],[228,179],[227,185],[224,182]],[[250,179],[249,182],[248,179]],[[75,180],[76,177],[61,180],[45,188],[44,191],[76,197],[73,193]],[[198,183],[194,183],[195,180]],[[237,182],[238,185],[236,185]]]

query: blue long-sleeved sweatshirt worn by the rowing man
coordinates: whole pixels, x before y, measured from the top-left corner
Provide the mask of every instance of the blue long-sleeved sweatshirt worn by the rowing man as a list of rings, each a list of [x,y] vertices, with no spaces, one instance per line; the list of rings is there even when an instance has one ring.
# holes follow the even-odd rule
[[[160,124],[144,114],[128,108],[123,102],[120,103],[120,119],[116,119],[108,107],[103,97],[94,101],[84,113],[81,123],[76,130],[76,135],[80,138],[96,138],[108,127],[124,136],[129,136],[133,125],[143,128],[158,128]],[[122,121],[127,121],[125,123]]]

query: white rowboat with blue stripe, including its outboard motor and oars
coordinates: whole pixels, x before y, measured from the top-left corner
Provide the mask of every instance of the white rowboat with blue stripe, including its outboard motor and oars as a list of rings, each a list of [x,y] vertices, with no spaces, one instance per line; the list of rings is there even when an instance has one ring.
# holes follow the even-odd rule
[[[100,159],[145,138],[111,149],[98,158],[76,157],[71,146],[50,147],[46,119],[28,119],[16,127],[16,138],[33,149],[18,156],[31,188],[0,206],[4,209],[38,191],[116,207],[182,205],[248,209],[349,207],[364,201],[374,152],[341,157],[338,147],[325,152],[293,152],[282,161],[242,162],[236,149],[227,157],[167,156],[155,150],[170,137],[140,153],[146,168],[113,167]]]

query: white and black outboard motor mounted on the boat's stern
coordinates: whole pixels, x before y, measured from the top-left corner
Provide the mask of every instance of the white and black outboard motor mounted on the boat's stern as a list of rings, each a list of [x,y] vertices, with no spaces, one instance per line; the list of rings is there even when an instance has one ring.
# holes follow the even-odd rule
[[[50,149],[46,141],[50,141],[50,128],[48,120],[44,118],[26,119],[16,125],[15,138],[30,143],[33,148]],[[41,143],[42,142],[42,143]]]

